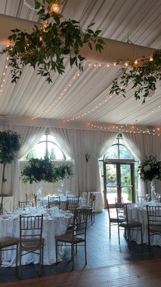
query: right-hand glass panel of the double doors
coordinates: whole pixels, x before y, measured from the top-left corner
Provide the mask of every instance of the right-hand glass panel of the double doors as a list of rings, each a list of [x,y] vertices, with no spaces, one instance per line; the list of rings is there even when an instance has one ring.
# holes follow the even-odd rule
[[[131,188],[131,166],[130,164],[120,164],[121,171],[121,197],[123,202],[132,202],[132,188]]]

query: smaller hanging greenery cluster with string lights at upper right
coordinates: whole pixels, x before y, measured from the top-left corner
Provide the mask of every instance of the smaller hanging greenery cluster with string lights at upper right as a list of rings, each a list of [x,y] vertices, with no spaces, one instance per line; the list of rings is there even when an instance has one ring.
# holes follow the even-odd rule
[[[126,88],[132,82],[135,99],[145,99],[149,92],[156,90],[157,80],[161,80],[161,50],[155,51],[153,56],[141,60],[125,61],[121,68],[122,75],[113,81],[110,94],[126,97]],[[128,66],[131,67],[129,70]]]

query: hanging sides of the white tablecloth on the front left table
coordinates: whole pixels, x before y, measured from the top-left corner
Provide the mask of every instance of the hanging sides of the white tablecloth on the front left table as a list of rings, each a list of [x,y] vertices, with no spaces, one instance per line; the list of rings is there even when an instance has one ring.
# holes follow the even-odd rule
[[[10,215],[11,216],[11,215]],[[19,219],[18,218],[0,218],[0,234],[1,236],[15,236],[19,238]],[[55,263],[55,236],[65,234],[67,227],[72,223],[71,214],[62,214],[59,218],[48,216],[43,221],[42,237],[44,238],[44,265]],[[58,260],[62,258],[62,248],[59,248]],[[29,253],[22,257],[22,264],[38,263],[39,256]],[[2,252],[2,266],[15,266],[16,251]]]

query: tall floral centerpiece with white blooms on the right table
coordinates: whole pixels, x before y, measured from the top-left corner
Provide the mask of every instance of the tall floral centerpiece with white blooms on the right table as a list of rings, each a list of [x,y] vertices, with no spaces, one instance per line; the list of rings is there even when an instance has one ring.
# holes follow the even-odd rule
[[[138,175],[144,182],[151,182],[151,200],[156,199],[156,180],[161,180],[161,162],[150,155],[138,166]]]

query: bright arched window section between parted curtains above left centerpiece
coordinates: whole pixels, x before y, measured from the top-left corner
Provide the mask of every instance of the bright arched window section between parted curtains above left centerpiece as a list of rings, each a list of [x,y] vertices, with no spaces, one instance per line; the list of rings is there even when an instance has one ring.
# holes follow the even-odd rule
[[[27,153],[21,160],[29,160],[30,158],[50,158],[50,160],[71,160],[59,147],[53,136],[44,134],[35,147]]]

